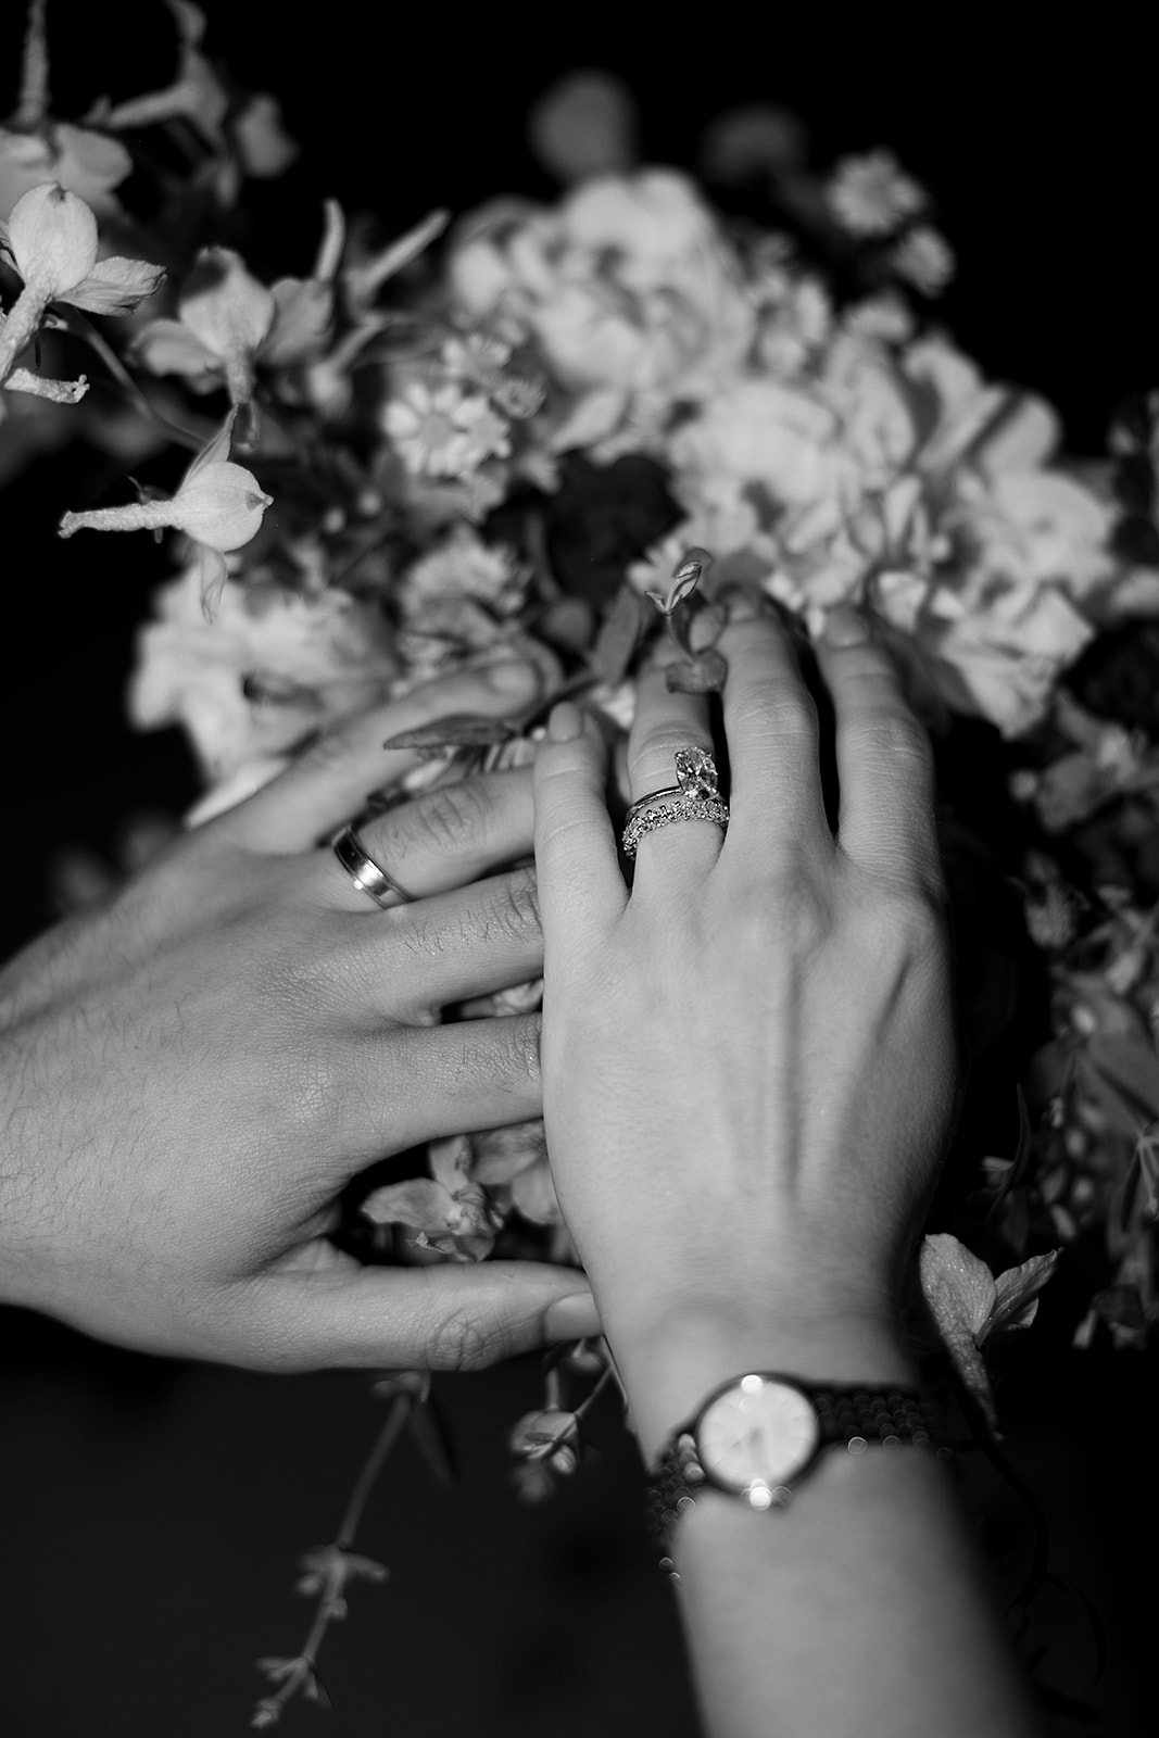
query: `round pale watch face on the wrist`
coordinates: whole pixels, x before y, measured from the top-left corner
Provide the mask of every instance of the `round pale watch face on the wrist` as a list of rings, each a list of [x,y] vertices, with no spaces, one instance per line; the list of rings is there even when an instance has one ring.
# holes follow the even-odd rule
[[[705,1408],[697,1429],[700,1465],[735,1491],[770,1491],[808,1465],[818,1439],[811,1403],[765,1376],[742,1376]]]

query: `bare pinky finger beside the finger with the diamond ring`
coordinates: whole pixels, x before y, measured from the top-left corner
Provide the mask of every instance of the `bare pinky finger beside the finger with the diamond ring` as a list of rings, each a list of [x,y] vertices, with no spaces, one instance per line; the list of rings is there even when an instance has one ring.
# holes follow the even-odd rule
[[[535,754],[535,872],[546,954],[565,928],[610,923],[627,902],[605,799],[606,766],[599,725],[563,700]]]

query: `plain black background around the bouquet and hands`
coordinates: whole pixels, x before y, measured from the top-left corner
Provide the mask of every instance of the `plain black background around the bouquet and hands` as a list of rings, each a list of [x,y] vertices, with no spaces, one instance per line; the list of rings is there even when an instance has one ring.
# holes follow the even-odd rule
[[[0,115],[19,10],[0,16]],[[275,90],[304,146],[283,184],[257,191],[262,268],[308,266],[325,193],[375,210],[387,233],[436,205],[551,196],[527,151],[527,109],[561,73],[601,66],[634,87],[652,162],[688,167],[704,123],[756,99],[796,109],[822,163],[893,148],[935,191],[959,254],[947,323],[987,372],[1053,400],[1072,452],[1096,454],[1123,395],[1159,384],[1152,63],[1126,9],[1050,33],[1029,9],[714,7],[679,30],[653,9],[460,14],[328,0],[311,12],[207,12],[210,54]],[[61,116],[103,89],[127,96],[163,76],[160,7],[56,3],[50,17]],[[111,862],[127,815],[176,817],[196,789],[176,733],[123,723],[132,636],[163,554],[148,539],[94,549],[96,539],[54,537],[59,511],[90,487],[90,462],[64,454],[0,492],[5,956],[52,919],[61,853]],[[1006,1449],[1046,1514],[1051,1569],[1093,1604],[1109,1642],[1095,1682],[1079,1594],[1048,1587],[1034,1616],[1043,1675],[1093,1703],[1086,1729],[1135,1738],[1150,1724],[1152,1611],[1136,1573],[1150,1580],[1156,1564],[1156,1361],[1102,1343],[1070,1352],[1077,1307],[1065,1284],[1048,1288],[1013,1350]],[[12,1738],[243,1731],[261,1689],[252,1660],[301,1639],[295,1556],[332,1536],[381,1401],[353,1375],[170,1364],[14,1310],[0,1314],[0,1728]],[[327,1644],[332,1715],[295,1705],[283,1729],[692,1738],[669,1594],[639,1533],[638,1469],[615,1406],[596,1418],[598,1463],[549,1509],[525,1509],[504,1436],[535,1401],[533,1361],[443,1380],[440,1392],[464,1477],[438,1491],[400,1451],[361,1540],[393,1578],[358,1589]],[[983,1481],[978,1512],[996,1550],[1010,1545],[1004,1573],[1017,1580],[1030,1531],[1003,1489]]]

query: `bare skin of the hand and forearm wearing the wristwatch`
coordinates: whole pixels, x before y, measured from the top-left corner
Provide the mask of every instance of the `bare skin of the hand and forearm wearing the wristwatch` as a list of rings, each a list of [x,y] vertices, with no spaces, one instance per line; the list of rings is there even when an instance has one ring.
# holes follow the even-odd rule
[[[853,614],[817,660],[822,733],[773,619],[730,626],[730,826],[650,833],[631,890],[591,720],[535,763],[544,1116],[560,1203],[653,1458],[745,1370],[912,1382],[897,1281],[959,1091],[926,735]],[[643,685],[631,798],[712,744]],[[700,1493],[674,1542],[711,1738],[1037,1731],[942,1467],[822,1456],[785,1510]]]

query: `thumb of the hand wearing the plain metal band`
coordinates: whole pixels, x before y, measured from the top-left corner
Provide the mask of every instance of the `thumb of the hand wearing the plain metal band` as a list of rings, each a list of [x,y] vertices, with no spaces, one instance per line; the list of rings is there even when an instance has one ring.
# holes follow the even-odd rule
[[[448,1262],[266,1274],[250,1283],[238,1343],[259,1370],[483,1370],[603,1333],[587,1279],[540,1262]]]

